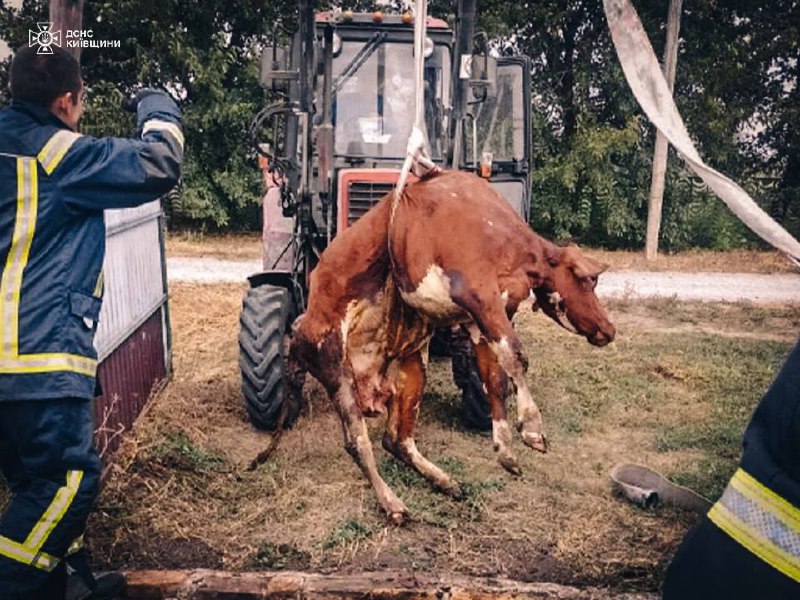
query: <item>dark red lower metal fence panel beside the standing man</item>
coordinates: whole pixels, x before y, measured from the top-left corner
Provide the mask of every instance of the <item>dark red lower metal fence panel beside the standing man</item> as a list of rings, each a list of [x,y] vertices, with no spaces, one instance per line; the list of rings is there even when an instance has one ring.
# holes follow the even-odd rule
[[[107,459],[119,447],[153,389],[167,377],[160,308],[100,364],[103,395],[95,400],[95,441]]]

